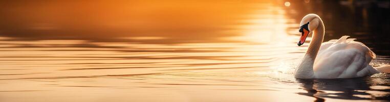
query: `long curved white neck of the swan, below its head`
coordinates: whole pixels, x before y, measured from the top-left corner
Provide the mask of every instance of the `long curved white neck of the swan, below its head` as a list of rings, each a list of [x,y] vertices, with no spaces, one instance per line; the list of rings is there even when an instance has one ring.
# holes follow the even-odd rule
[[[321,46],[324,36],[324,25],[322,20],[319,20],[318,27],[313,31],[313,37],[310,42],[309,48],[302,62],[298,65],[295,70],[295,78],[298,79],[312,79],[314,77],[313,65],[319,47]]]

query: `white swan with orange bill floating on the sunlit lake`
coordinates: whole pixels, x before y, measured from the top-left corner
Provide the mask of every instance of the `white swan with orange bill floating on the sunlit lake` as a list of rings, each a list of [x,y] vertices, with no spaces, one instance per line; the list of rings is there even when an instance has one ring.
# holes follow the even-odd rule
[[[356,78],[390,72],[389,65],[376,69],[369,65],[376,55],[363,43],[347,39],[349,36],[322,43],[325,28],[318,15],[306,15],[300,25],[299,32],[302,35],[298,41],[299,46],[304,44],[309,34],[314,34],[304,59],[295,69],[295,78]]]

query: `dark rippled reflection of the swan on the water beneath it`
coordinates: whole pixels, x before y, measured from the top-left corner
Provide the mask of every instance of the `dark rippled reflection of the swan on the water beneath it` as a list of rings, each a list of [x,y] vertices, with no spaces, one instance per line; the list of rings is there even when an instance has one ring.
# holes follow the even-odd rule
[[[327,99],[389,99],[390,93],[379,92],[389,90],[386,88],[375,89],[373,80],[384,80],[371,77],[354,79],[297,79],[301,89],[307,92],[297,94],[316,98],[315,101]]]

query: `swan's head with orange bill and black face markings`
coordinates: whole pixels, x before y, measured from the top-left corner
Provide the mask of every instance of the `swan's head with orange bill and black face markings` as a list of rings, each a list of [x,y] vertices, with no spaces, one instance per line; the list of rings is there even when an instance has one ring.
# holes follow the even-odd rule
[[[301,33],[298,41],[298,46],[305,43],[306,38],[313,33],[314,29],[318,27],[319,16],[316,14],[308,14],[300,21],[299,32]]]

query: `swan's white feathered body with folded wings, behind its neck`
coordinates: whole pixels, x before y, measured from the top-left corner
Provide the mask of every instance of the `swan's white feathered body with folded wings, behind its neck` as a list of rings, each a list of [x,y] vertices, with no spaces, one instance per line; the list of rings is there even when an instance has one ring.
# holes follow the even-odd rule
[[[375,54],[353,40],[341,37],[323,44],[326,48],[318,53],[313,66],[316,78],[354,78],[377,72],[369,65]]]

